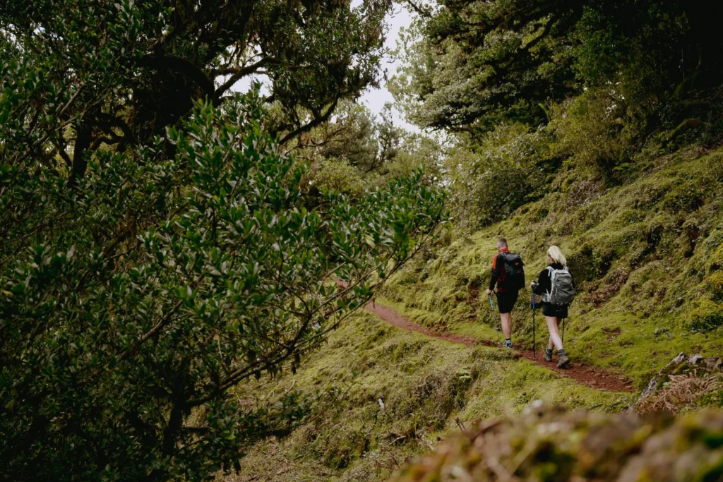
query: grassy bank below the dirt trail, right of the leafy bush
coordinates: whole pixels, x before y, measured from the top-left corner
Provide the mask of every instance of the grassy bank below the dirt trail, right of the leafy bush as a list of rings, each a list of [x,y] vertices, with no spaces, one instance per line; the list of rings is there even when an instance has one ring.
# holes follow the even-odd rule
[[[243,384],[236,395],[254,404],[292,388],[314,394],[309,421],[286,439],[252,447],[241,473],[221,480],[385,480],[458,432],[455,418],[469,425],[512,416],[532,400],[609,412],[634,401],[628,393],[578,385],[508,352],[405,332],[369,313],[335,332],[296,374]]]

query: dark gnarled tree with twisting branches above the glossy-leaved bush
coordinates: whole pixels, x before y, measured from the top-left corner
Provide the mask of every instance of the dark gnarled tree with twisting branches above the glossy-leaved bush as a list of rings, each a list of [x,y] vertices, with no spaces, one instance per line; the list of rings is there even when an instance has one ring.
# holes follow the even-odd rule
[[[266,100],[284,113],[270,129],[287,142],[329,119],[341,99],[376,85],[388,7],[386,0],[355,9],[328,0],[7,1],[0,7],[6,68],[23,64],[37,74],[10,86],[25,90],[13,111],[25,126],[17,135],[46,163],[59,155],[75,182],[100,145],[118,152],[142,145],[177,125],[194,100],[218,106],[240,79],[265,74]]]

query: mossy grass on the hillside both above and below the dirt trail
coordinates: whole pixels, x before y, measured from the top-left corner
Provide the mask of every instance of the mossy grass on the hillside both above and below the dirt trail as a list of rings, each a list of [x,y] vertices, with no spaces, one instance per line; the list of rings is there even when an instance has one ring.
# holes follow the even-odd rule
[[[556,190],[501,223],[437,246],[398,272],[377,302],[427,327],[495,339],[489,263],[498,236],[523,254],[529,279],[547,246],[568,255],[578,298],[565,348],[577,360],[643,388],[677,353],[723,353],[723,149],[665,155],[623,186],[605,189],[570,171]],[[513,313],[515,343],[531,345],[529,290]],[[537,318],[540,342],[544,321]],[[515,358],[404,332],[361,313],[296,374],[242,384],[244,405],[299,390],[312,415],[285,439],[249,449],[226,481],[385,480],[459,431],[458,422],[513,416],[532,400],[617,412],[636,395],[599,392]],[[720,406],[721,392],[696,408]],[[691,405],[691,406],[693,406]]]

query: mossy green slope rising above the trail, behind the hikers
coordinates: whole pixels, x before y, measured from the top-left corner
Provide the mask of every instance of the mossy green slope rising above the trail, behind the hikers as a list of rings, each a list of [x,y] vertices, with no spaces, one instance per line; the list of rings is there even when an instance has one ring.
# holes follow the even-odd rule
[[[427,326],[494,337],[484,289],[495,241],[505,236],[529,279],[544,267],[547,246],[568,255],[580,292],[565,332],[574,358],[642,388],[677,353],[723,352],[723,150],[664,156],[612,189],[567,176],[502,223],[414,260],[377,300]],[[514,338],[525,345],[530,296],[521,292],[514,314]]]

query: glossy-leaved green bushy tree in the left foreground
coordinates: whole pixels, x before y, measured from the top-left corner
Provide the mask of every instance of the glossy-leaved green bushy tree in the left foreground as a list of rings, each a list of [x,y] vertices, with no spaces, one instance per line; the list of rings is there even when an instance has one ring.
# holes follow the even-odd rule
[[[68,191],[2,165],[0,459],[12,480],[201,480],[306,413],[239,406],[241,380],[301,356],[434,236],[415,176],[307,211],[252,95],[198,105]],[[416,236],[420,236],[416,239]],[[340,278],[347,287],[335,283]]]

